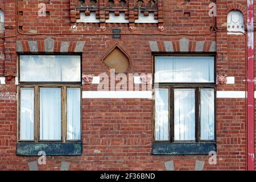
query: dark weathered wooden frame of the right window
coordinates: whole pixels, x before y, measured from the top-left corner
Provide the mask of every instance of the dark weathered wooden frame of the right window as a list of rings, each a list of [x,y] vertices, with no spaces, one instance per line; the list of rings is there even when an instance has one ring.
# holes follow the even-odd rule
[[[214,54],[205,53],[172,53],[172,54],[155,54],[152,56],[152,73],[155,73],[155,57],[156,56],[212,56],[214,57],[214,78],[216,77],[216,59]],[[168,140],[155,140],[155,100],[152,101],[154,111],[152,112],[152,141],[154,143],[212,143],[216,142],[216,81],[214,82],[158,82],[157,87],[153,74],[154,89],[168,89],[168,104],[169,104],[169,138]],[[174,89],[195,89],[195,140],[174,140]],[[200,89],[214,89],[214,140],[200,139]]]

